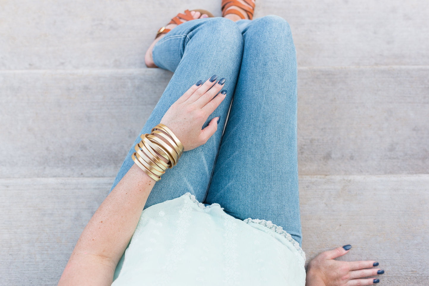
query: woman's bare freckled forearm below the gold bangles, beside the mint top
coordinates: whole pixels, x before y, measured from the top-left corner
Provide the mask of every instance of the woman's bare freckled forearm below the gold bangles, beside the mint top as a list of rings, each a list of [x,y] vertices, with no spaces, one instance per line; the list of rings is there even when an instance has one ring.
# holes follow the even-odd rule
[[[112,283],[154,184],[136,164],[131,167],[83,230],[59,285]]]

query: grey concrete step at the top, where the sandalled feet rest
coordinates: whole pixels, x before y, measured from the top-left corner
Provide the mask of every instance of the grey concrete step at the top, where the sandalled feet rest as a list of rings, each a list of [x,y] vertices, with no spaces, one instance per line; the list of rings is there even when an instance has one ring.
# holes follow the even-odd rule
[[[130,69],[159,27],[219,1],[15,0],[0,6],[0,69]],[[292,28],[299,66],[429,65],[425,0],[257,0]],[[278,31],[273,31],[278,33]]]

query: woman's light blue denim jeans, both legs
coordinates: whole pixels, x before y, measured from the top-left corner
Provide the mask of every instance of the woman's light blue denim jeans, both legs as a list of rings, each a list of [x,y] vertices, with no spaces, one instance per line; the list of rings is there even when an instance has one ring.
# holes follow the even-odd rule
[[[144,208],[190,192],[199,202],[219,203],[240,220],[271,220],[301,245],[297,67],[289,24],[274,15],[237,22],[196,19],[167,33],[152,55],[158,67],[174,74],[140,134],[150,133],[198,80],[225,77],[228,92],[203,125],[220,116],[221,128],[166,170]],[[112,189],[133,166],[131,154],[140,140],[137,136]]]

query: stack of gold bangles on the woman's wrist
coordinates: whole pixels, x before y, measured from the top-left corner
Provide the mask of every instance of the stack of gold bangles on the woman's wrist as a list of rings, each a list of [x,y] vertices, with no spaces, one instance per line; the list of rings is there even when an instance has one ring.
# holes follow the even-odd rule
[[[159,181],[161,175],[168,168],[172,168],[177,164],[184,152],[184,147],[166,125],[160,123],[152,128],[151,132],[151,134],[142,134],[140,136],[142,141],[134,147],[136,152],[131,155],[131,158],[149,177]],[[172,147],[161,138],[165,139]],[[169,162],[164,162],[161,157]]]

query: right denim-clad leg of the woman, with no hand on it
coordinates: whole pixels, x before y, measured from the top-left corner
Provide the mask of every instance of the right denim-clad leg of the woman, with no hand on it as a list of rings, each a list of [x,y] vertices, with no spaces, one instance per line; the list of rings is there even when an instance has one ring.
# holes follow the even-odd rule
[[[241,220],[271,220],[301,244],[292,34],[284,19],[270,15],[251,21],[243,38],[239,80],[205,203],[219,203]]]

